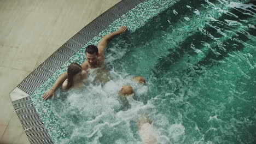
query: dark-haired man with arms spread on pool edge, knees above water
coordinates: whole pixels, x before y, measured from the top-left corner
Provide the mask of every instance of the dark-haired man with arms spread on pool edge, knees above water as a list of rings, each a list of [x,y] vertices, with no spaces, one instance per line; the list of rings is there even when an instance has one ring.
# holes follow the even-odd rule
[[[89,45],[86,47],[85,55],[87,61],[85,61],[81,66],[82,70],[89,70],[89,69],[96,69],[96,73],[98,75],[96,76],[96,79],[98,81],[101,81],[103,83],[108,81],[107,73],[108,71],[105,69],[105,57],[104,57],[104,51],[107,47],[108,42],[115,36],[121,33],[124,33],[127,30],[126,26],[123,26],[118,29],[118,31],[115,31],[113,33],[105,35],[100,43],[95,45]],[[54,92],[55,89],[60,86],[65,80],[67,79],[67,72],[63,73],[54,83],[53,87],[49,89],[49,91],[45,92],[42,95],[43,100],[46,100],[50,97],[54,98]],[[145,79],[141,76],[136,76],[133,78],[133,81],[139,82],[139,83],[146,83]],[[121,95],[129,95],[133,93],[133,89],[131,86],[123,86],[119,92]]]

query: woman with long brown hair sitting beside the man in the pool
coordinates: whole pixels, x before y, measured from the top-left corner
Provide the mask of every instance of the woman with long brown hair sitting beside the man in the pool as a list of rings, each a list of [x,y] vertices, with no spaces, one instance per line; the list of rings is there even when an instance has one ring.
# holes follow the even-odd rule
[[[72,63],[68,66],[68,77],[62,83],[62,90],[67,91],[71,88],[81,88],[83,86],[83,80],[87,79],[88,75],[85,70],[82,70],[81,65],[78,63]]]

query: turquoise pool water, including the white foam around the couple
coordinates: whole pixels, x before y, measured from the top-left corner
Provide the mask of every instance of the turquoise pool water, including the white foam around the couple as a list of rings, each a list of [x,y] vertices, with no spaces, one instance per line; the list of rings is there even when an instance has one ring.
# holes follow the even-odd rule
[[[179,1],[106,51],[112,80],[57,92],[53,111],[71,143],[142,143],[146,113],[161,143],[255,143],[256,6]],[[131,81],[143,76],[147,85]],[[123,106],[117,92],[135,89]]]

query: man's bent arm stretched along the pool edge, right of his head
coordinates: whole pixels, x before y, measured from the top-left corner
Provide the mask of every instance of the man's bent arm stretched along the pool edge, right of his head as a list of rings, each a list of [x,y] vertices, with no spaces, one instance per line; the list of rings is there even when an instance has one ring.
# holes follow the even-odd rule
[[[107,44],[108,42],[115,36],[115,35],[118,35],[118,34],[121,34],[121,33],[124,33],[126,31],[127,27],[126,26],[123,26],[123,27],[120,27],[118,29],[118,31],[115,31],[113,33],[109,33],[107,35],[105,35],[100,43],[98,44],[98,53],[100,54],[100,56],[103,56],[104,55],[104,51],[107,47]]]

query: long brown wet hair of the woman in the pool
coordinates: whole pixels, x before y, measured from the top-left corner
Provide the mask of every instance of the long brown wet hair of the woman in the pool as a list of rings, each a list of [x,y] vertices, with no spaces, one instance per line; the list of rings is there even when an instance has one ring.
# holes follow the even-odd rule
[[[68,85],[66,89],[69,89],[74,86],[74,76],[78,74],[80,71],[82,71],[82,67],[78,63],[72,63],[68,66]]]

